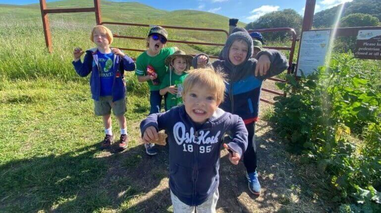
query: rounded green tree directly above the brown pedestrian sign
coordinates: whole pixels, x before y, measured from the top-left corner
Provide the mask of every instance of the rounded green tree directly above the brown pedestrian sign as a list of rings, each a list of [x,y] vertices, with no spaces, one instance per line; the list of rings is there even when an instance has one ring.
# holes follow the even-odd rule
[[[363,13],[352,13],[340,20],[340,27],[367,27],[378,26],[379,24],[377,17]]]

